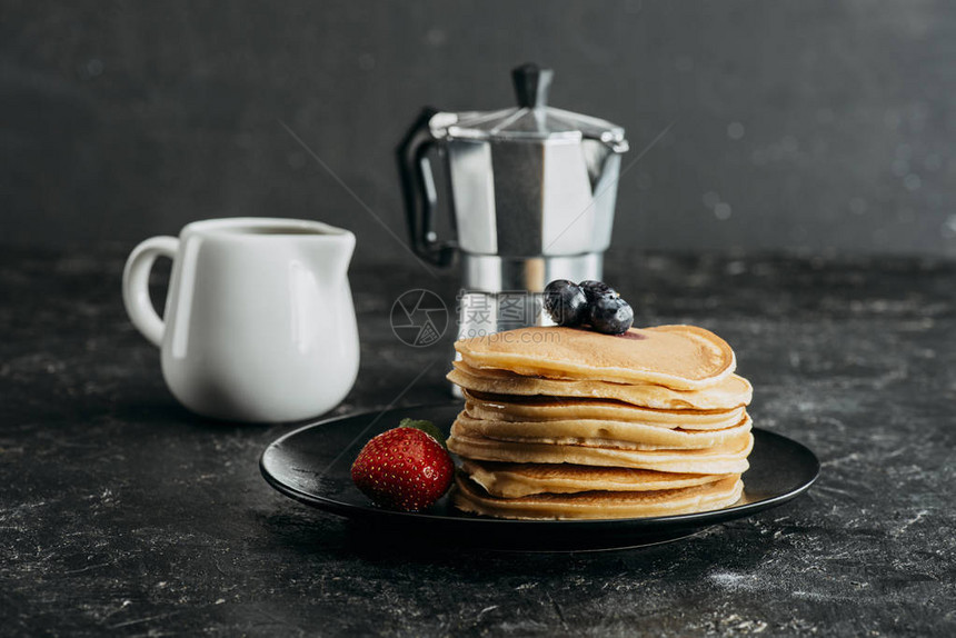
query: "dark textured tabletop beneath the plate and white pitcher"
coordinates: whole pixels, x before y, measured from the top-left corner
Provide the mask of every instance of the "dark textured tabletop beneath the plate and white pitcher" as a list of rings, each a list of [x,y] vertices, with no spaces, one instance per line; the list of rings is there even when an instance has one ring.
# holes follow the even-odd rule
[[[611,255],[638,323],[725,337],[755,423],[823,471],[677,542],[521,555],[358,540],[270,489],[258,457],[295,426],[177,406],[122,309],[130,248],[0,250],[0,635],[956,635],[956,263]],[[422,279],[352,269],[333,413],[448,400],[447,339],[389,329],[409,288],[454,300]]]

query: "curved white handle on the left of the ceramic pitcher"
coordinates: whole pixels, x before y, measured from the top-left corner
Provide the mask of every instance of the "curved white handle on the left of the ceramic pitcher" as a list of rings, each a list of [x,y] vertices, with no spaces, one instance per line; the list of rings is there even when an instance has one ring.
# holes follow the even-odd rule
[[[130,321],[156,347],[162,346],[166,323],[157,315],[149,298],[149,272],[157,257],[176,258],[179,240],[175,237],[152,237],[130,252],[122,273],[122,299]]]

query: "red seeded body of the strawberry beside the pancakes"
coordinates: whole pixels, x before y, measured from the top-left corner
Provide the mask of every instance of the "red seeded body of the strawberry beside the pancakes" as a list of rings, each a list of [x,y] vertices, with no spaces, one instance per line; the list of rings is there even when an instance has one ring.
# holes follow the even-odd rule
[[[376,505],[418,511],[441,498],[451,485],[455,465],[435,438],[417,428],[399,427],[367,442],[351,473]]]

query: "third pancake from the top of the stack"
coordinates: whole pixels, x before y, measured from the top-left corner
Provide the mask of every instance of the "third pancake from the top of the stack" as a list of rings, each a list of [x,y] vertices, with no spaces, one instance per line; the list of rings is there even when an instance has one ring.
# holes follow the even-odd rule
[[[464,390],[466,409],[478,419],[499,421],[568,421],[598,419],[627,421],[656,428],[719,430],[744,418],[744,408],[731,410],[651,410],[606,399],[515,397]]]

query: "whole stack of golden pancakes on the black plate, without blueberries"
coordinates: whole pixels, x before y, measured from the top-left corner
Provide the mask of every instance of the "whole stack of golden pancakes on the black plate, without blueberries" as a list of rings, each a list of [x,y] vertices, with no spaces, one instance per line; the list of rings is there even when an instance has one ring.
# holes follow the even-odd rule
[[[753,389],[693,326],[609,336],[521,328],[455,343],[466,403],[455,505],[504,518],[631,518],[726,507],[754,445]]]

